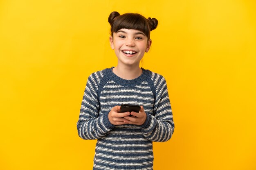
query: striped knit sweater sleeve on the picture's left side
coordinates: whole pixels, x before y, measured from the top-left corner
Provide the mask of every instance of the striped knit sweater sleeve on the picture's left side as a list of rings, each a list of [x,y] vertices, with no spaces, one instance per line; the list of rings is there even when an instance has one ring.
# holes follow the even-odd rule
[[[86,83],[79,120],[76,123],[78,135],[82,139],[99,139],[114,127],[108,120],[107,113],[99,114],[97,96],[100,75],[99,72],[91,74]]]

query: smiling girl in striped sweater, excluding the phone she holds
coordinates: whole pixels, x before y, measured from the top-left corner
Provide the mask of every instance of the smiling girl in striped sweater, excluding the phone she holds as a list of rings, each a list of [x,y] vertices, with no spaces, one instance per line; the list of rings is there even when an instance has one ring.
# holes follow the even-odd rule
[[[169,140],[174,130],[164,77],[139,68],[158,22],[118,12],[110,13],[108,22],[118,63],[89,76],[77,130],[82,139],[98,139],[94,170],[152,170],[152,142]],[[139,113],[119,113],[121,104],[141,108]]]

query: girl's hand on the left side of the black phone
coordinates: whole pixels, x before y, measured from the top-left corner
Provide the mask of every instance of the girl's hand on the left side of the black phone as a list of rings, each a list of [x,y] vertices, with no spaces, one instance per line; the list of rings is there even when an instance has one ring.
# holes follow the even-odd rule
[[[121,106],[115,106],[108,113],[108,120],[110,121],[111,124],[114,124],[114,125],[127,124],[126,122],[124,122],[126,120],[124,117],[125,116],[129,117],[130,112],[118,113],[120,108]]]

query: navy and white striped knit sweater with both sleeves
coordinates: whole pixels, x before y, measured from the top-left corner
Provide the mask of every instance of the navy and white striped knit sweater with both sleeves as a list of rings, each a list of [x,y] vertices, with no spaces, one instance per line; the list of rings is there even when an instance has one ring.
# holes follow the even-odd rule
[[[125,80],[112,68],[88,78],[79,120],[82,139],[97,139],[94,170],[152,170],[153,144],[171,138],[173,115],[163,76],[145,70],[141,76]],[[147,114],[144,124],[115,126],[108,120],[112,107],[142,105]]]

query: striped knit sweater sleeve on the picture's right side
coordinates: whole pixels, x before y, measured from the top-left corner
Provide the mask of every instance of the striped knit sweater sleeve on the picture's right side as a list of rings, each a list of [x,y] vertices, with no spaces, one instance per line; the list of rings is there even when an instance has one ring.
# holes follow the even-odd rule
[[[156,87],[155,113],[153,115],[147,113],[147,119],[141,125],[141,131],[150,141],[166,142],[173,135],[174,122],[165,78],[157,74],[154,85]]]

